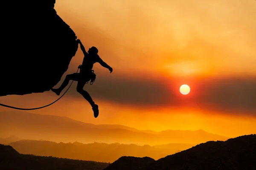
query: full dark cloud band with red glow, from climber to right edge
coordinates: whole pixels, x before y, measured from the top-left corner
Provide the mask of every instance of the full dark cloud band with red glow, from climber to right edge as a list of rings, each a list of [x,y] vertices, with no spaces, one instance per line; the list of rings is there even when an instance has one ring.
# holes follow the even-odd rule
[[[191,93],[183,96],[179,93],[177,82],[172,79],[150,79],[149,75],[123,77],[112,73],[98,74],[93,85],[84,87],[93,99],[139,107],[197,106],[212,111],[256,115],[256,77],[198,79]],[[76,83],[67,96],[82,97],[76,92]]]

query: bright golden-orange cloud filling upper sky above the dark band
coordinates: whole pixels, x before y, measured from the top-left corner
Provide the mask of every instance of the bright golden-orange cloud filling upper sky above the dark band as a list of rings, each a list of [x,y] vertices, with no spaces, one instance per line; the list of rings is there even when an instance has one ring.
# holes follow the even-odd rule
[[[56,4],[58,14],[86,48],[97,46],[100,56],[119,70],[150,71],[149,67],[192,61],[189,69],[199,68],[200,74],[209,70],[255,74],[255,7],[254,1],[241,0],[64,0]]]

